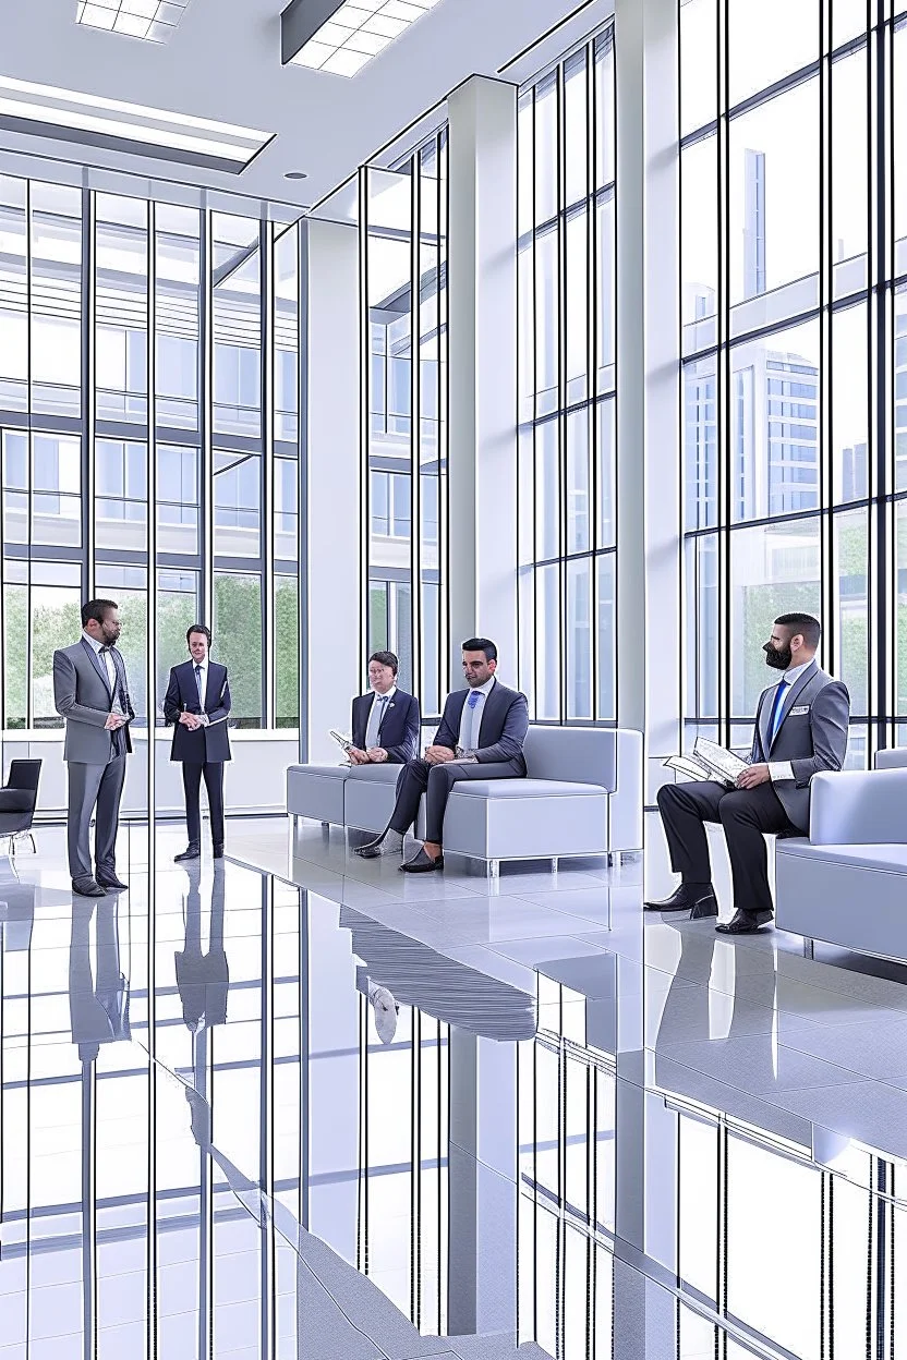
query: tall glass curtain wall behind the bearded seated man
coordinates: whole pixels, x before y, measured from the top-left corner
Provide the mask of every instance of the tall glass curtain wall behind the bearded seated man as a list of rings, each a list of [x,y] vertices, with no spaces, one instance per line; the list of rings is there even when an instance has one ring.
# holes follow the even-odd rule
[[[907,741],[907,8],[680,5],[687,737],[821,617],[849,764]]]

